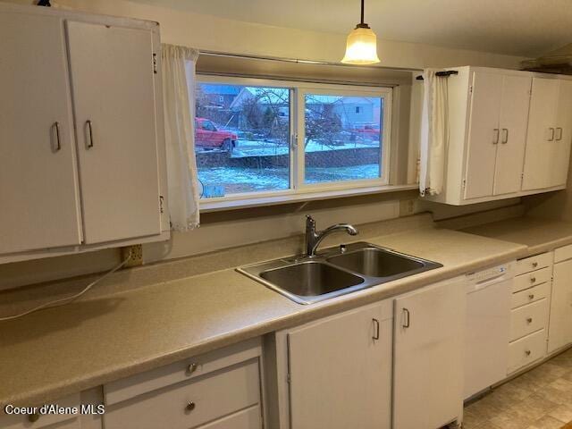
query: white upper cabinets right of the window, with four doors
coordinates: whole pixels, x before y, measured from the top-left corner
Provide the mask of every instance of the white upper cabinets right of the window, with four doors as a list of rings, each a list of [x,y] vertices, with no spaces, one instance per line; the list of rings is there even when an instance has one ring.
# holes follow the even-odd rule
[[[428,200],[467,205],[563,189],[572,134],[572,80],[479,67],[447,79],[445,186]]]

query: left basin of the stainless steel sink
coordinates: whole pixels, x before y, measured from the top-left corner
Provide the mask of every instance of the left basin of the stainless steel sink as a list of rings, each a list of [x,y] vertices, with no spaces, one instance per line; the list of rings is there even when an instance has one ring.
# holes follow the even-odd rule
[[[355,274],[314,261],[264,271],[260,277],[301,297],[324,295],[365,282]]]

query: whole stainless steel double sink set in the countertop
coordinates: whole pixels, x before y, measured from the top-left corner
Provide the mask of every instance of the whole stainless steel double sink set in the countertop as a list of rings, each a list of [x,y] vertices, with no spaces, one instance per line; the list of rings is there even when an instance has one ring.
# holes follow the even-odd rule
[[[275,259],[237,268],[299,304],[312,304],[442,266],[388,248],[358,242],[315,257]]]

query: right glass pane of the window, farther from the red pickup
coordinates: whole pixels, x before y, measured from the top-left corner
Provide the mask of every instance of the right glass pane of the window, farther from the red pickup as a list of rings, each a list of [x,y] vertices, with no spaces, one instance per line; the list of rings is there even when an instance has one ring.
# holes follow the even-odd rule
[[[383,97],[305,96],[306,183],[382,175]]]

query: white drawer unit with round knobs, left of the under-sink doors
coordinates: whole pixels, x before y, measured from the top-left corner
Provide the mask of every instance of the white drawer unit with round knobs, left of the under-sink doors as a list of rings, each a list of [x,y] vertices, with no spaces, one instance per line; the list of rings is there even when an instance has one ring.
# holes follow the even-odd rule
[[[105,429],[260,429],[259,339],[104,386]]]

